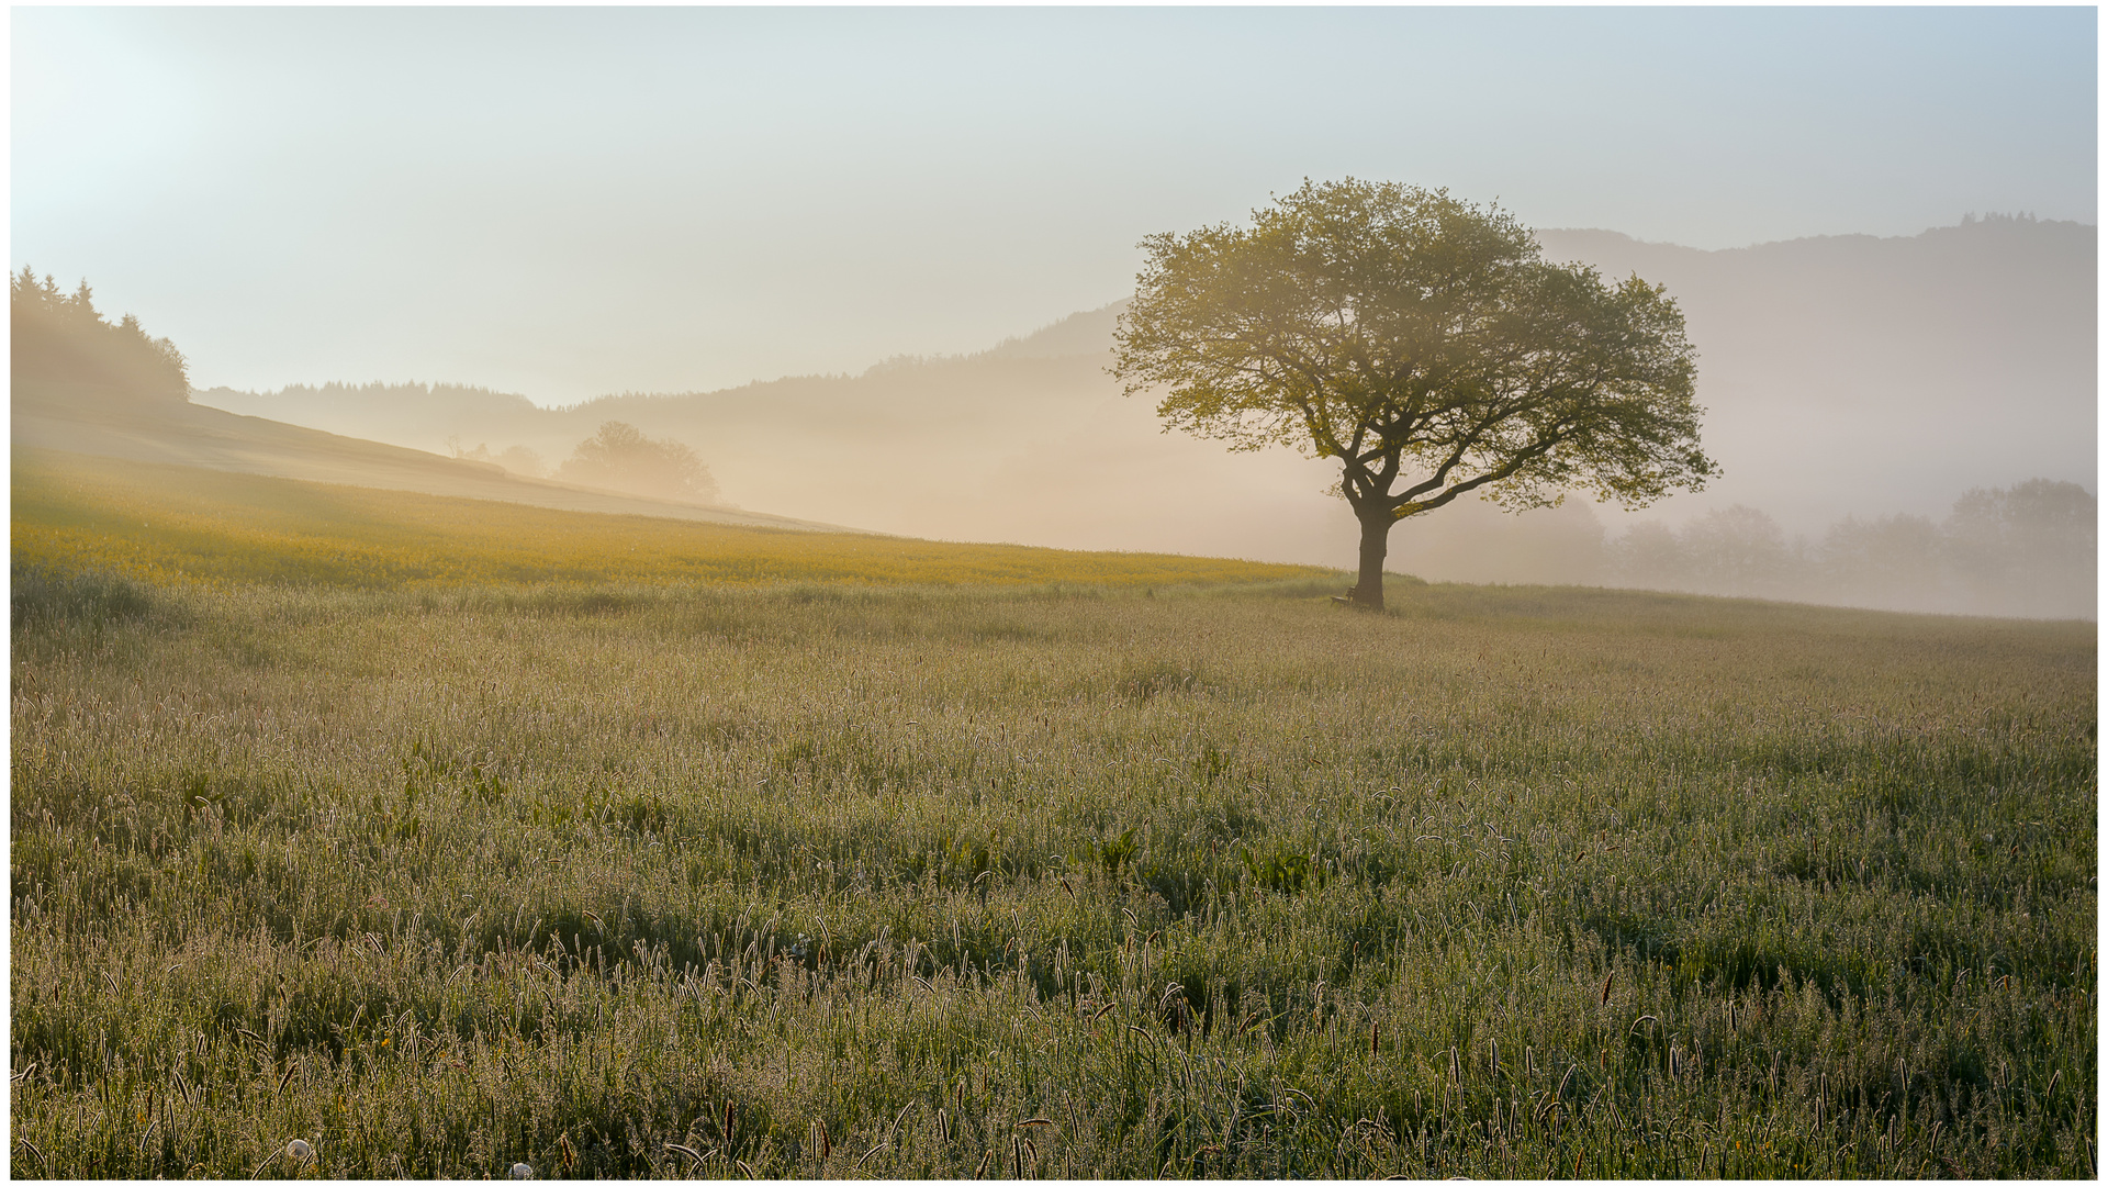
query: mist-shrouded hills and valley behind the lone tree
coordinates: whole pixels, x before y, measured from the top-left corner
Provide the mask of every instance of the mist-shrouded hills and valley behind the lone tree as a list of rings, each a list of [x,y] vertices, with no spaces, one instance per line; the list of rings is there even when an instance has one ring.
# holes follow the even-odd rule
[[[1554,257],[1638,272],[1680,300],[1705,447],[1726,475],[1642,513],[1457,502],[1398,525],[1393,572],[2093,616],[2091,226],[1973,219],[1739,251],[1541,238]],[[970,357],[573,407],[445,384],[196,399],[565,481],[578,477],[559,471],[565,458],[620,422],[687,449],[715,500],[776,515],[1349,566],[1355,525],[1326,494],[1326,462],[1166,435],[1145,399],[1117,393],[1105,374],[1117,312]]]

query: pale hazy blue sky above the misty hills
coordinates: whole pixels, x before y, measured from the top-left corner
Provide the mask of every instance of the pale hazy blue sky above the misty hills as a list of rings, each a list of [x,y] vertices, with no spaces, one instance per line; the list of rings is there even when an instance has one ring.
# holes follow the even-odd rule
[[[963,352],[1301,179],[1693,247],[2095,222],[2093,8],[13,8],[11,264],[198,386]]]

